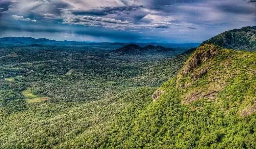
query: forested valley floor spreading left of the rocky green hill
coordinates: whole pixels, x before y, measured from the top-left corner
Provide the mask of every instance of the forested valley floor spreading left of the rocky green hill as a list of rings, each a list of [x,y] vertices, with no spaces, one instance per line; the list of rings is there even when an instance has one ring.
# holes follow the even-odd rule
[[[188,57],[112,57],[79,47],[48,48],[1,49],[3,55],[20,56],[2,58],[0,76],[19,76],[21,83],[0,78],[0,148],[101,146],[94,137],[108,136],[121,113],[135,117]],[[66,75],[70,70],[75,73]],[[50,99],[29,103],[40,97]]]

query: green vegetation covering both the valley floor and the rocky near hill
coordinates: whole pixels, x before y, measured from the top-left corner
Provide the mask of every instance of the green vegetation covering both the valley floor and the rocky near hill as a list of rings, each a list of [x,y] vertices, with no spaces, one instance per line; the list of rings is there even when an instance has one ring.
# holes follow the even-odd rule
[[[189,58],[112,57],[41,48],[1,49],[22,56],[0,61],[0,76],[21,82],[0,78],[0,148],[256,147],[255,52],[206,44]],[[50,99],[26,102],[37,95]]]

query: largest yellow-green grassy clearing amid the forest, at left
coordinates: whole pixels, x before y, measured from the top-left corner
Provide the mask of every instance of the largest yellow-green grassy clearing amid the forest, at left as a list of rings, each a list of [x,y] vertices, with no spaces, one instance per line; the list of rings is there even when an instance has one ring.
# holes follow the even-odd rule
[[[37,103],[37,102],[42,102],[42,101],[49,100],[49,97],[43,97],[43,96],[40,96],[40,95],[33,95],[30,88],[27,88],[26,90],[24,90],[22,92],[22,95],[25,96],[26,101],[28,103]]]

